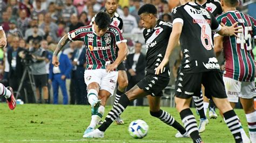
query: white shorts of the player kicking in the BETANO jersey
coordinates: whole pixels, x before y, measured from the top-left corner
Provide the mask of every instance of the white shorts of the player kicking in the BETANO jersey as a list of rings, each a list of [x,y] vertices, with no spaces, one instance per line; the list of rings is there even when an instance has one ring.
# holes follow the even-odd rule
[[[84,81],[88,85],[92,82],[99,84],[99,90],[109,91],[111,95],[117,84],[118,71],[107,73],[106,69],[91,69],[84,71]]]

